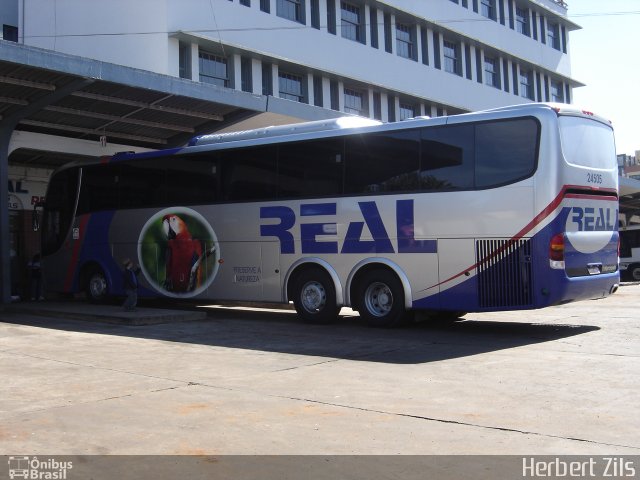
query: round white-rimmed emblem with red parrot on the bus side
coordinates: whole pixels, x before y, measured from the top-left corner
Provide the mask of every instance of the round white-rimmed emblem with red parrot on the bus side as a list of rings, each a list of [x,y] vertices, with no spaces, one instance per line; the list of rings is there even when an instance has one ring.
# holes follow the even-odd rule
[[[171,207],[145,223],[138,258],[147,281],[168,297],[194,297],[213,282],[220,245],[209,222],[195,210]]]

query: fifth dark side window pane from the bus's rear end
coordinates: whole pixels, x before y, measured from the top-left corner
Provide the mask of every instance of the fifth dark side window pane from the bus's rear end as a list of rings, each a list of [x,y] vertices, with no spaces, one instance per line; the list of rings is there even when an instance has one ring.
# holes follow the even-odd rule
[[[276,198],[276,151],[270,145],[222,151],[224,200]]]

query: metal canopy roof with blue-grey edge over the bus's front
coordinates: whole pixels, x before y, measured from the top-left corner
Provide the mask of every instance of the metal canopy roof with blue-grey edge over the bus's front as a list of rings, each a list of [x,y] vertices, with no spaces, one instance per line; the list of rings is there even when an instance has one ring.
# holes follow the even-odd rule
[[[295,103],[0,41],[0,124],[33,110],[17,130],[155,149],[265,112],[340,115]]]

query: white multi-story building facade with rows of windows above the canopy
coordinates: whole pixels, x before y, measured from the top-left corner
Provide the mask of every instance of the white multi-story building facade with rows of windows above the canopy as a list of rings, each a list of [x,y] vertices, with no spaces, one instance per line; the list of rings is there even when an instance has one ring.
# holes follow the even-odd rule
[[[16,0],[19,42],[398,121],[570,103],[559,0]]]

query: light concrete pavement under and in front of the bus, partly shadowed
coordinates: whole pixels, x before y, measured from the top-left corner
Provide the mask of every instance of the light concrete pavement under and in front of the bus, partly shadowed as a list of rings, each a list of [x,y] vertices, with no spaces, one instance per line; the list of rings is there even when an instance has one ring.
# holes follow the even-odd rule
[[[0,454],[640,454],[640,285],[400,330],[62,310],[0,312]]]

